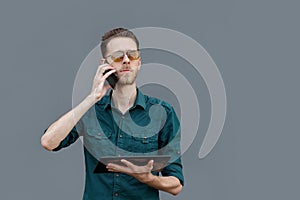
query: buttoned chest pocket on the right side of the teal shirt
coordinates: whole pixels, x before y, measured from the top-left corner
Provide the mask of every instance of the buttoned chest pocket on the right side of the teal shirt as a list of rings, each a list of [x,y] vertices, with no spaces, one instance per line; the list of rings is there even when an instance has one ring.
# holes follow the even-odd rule
[[[156,154],[158,150],[158,134],[144,133],[132,135],[131,150],[134,153]]]

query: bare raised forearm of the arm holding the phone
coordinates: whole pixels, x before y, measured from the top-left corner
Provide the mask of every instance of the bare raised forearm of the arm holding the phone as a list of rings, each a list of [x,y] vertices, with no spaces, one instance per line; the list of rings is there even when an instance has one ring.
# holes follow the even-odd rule
[[[79,105],[64,114],[49,126],[41,138],[42,146],[51,151],[68,135],[80,118],[95,104],[92,95],[87,96]]]

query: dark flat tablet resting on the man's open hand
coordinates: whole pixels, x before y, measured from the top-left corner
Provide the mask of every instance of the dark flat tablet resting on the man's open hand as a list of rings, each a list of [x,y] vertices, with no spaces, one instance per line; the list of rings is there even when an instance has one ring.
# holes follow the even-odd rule
[[[154,163],[152,171],[160,171],[168,165],[170,158],[171,156],[169,155],[105,156],[99,159],[99,162],[94,169],[94,173],[107,173],[108,170],[106,169],[106,165],[108,163],[125,166],[124,163],[121,162],[122,159],[139,166],[147,165],[150,160],[153,160]]]

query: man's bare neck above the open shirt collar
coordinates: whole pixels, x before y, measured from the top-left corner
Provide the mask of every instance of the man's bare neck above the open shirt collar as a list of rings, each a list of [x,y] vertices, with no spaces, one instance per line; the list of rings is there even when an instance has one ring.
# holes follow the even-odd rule
[[[115,90],[112,93],[112,101],[124,114],[130,107],[133,106],[136,95],[136,84],[116,85]]]

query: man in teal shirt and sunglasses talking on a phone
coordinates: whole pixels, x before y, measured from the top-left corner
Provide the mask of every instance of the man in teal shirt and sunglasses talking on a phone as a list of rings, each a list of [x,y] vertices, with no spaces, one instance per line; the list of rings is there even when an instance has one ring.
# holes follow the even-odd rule
[[[138,48],[139,42],[131,31],[124,28],[108,31],[102,37],[103,58],[90,94],[50,125],[41,138],[45,149],[58,151],[83,136],[86,164],[83,199],[154,200],[159,199],[159,190],[173,195],[182,190],[179,121],[169,104],[137,89],[135,80],[141,67]],[[114,89],[105,85],[112,74],[118,79]],[[150,108],[156,104],[165,109],[165,115],[154,111],[152,119]],[[151,121],[159,124],[159,129],[149,128]],[[138,125],[128,125],[132,122]],[[160,171],[161,176],[152,171],[153,160],[138,166],[123,159],[124,165],[107,164],[108,173],[94,173],[101,156],[159,151],[172,154],[172,162]]]

